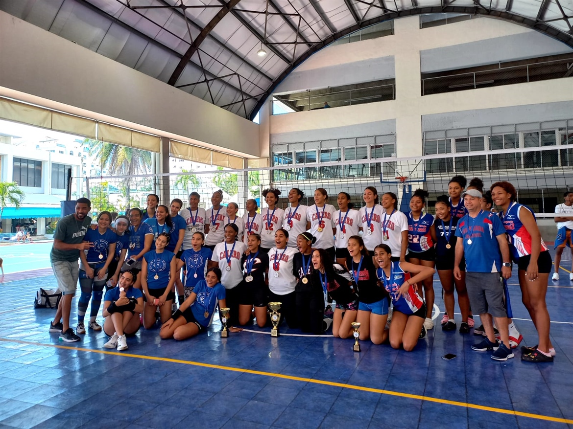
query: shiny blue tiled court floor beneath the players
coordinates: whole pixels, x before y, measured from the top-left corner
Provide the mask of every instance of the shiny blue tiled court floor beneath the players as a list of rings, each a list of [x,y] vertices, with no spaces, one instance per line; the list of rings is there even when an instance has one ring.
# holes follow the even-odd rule
[[[547,293],[557,356],[545,364],[521,362],[518,349],[514,359],[494,362],[470,349],[479,337],[442,332],[441,315],[410,353],[367,341],[355,353],[352,340],[333,337],[222,339],[219,324],[182,342],[141,329],[124,352],[102,348],[103,332],[64,344],[48,332],[54,311],[32,307],[38,287],[56,287],[50,272],[7,278],[0,428],[573,427],[573,283],[560,274]],[[522,344],[534,345],[516,277],[509,281],[515,322]],[[434,287],[443,309],[438,281]],[[446,362],[446,353],[458,358]]]

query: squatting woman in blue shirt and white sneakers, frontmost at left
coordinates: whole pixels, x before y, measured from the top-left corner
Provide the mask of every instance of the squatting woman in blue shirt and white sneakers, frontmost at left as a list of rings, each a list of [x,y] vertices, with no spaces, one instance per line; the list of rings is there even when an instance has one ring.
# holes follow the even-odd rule
[[[136,275],[124,271],[119,285],[109,289],[104,298],[104,332],[110,335],[105,348],[127,350],[125,335],[134,335],[139,330],[139,315],[143,312],[143,293],[133,287]],[[113,334],[111,334],[113,332]]]

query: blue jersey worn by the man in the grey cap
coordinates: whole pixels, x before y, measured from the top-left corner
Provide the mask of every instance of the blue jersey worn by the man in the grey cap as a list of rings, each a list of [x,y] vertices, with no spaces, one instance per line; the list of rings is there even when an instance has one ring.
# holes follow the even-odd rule
[[[501,253],[496,237],[502,234],[505,235],[505,228],[495,213],[480,210],[476,217],[465,215],[458,221],[456,237],[464,239],[466,271],[501,271]],[[469,240],[472,240],[471,244]]]

